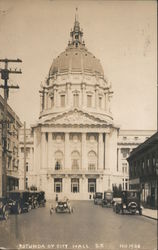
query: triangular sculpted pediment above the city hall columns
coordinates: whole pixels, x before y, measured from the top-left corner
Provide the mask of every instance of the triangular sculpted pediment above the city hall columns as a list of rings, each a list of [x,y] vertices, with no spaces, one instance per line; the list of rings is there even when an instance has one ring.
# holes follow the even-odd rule
[[[88,126],[107,126],[109,123],[106,120],[95,117],[94,115],[85,113],[81,110],[68,111],[55,117],[46,119],[45,125],[88,125]]]

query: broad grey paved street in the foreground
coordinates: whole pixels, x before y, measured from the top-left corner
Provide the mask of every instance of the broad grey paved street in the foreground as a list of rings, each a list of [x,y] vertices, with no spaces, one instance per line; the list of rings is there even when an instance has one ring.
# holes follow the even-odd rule
[[[157,249],[157,222],[118,215],[92,201],[74,201],[73,214],[45,208],[0,221],[0,247],[23,249]],[[28,245],[27,245],[28,244]],[[32,245],[34,244],[34,245]]]

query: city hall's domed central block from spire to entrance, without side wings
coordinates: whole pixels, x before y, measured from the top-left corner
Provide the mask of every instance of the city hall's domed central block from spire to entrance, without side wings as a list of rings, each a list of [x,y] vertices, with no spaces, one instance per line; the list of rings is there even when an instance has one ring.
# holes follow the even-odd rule
[[[40,90],[40,115],[32,126],[32,183],[48,199],[90,199],[117,183],[117,136],[110,111],[111,84],[88,51],[77,16],[64,52]]]

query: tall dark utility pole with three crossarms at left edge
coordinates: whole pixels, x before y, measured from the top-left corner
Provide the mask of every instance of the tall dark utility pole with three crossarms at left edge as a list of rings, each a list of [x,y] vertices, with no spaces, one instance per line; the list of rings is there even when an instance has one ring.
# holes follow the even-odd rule
[[[4,63],[4,69],[0,69],[1,79],[4,80],[4,85],[0,85],[0,88],[4,89],[4,112],[2,121],[2,195],[6,197],[7,195],[7,127],[9,120],[7,119],[7,100],[9,97],[9,89],[17,89],[18,85],[8,85],[9,74],[21,74],[21,70],[8,69],[8,63],[19,63],[22,62],[20,59],[0,59],[0,62]]]

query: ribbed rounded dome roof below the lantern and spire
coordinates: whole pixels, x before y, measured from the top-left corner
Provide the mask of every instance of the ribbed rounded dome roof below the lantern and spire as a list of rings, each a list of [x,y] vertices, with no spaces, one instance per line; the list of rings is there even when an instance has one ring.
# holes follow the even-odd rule
[[[92,73],[104,75],[100,61],[84,46],[68,46],[56,59],[54,59],[49,76],[56,73]]]

